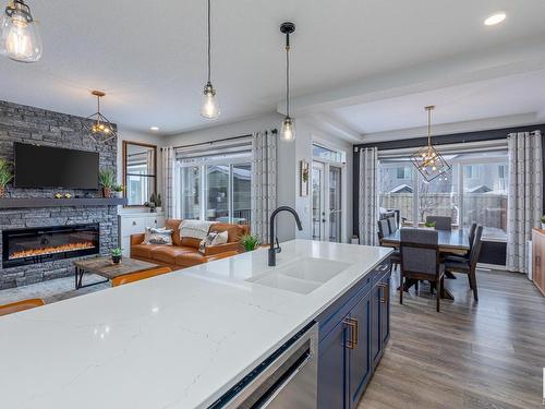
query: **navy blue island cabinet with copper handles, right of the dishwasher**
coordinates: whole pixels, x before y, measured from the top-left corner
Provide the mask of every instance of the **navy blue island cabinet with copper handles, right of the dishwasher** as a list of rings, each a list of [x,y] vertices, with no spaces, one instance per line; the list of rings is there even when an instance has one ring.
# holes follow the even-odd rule
[[[390,336],[389,262],[318,316],[318,408],[355,409]]]

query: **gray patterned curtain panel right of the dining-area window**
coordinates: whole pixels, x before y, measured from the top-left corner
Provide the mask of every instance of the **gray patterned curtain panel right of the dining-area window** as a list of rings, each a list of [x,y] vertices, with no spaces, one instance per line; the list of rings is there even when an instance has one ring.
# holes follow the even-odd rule
[[[511,133],[507,203],[507,268],[525,273],[525,243],[543,214],[541,131]]]

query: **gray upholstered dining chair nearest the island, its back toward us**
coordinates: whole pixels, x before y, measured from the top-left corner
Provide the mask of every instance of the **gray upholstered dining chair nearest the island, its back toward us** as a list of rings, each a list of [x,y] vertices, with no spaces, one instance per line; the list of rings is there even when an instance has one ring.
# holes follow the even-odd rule
[[[401,273],[399,303],[403,304],[404,279],[426,280],[437,290],[437,312],[444,288],[445,265],[439,258],[439,234],[436,230],[400,230]]]

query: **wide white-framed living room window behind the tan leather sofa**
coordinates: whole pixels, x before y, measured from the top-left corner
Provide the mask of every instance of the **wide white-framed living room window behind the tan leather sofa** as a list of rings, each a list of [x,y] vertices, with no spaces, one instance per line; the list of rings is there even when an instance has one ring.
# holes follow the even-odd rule
[[[250,225],[250,149],[243,145],[180,155],[182,218]]]

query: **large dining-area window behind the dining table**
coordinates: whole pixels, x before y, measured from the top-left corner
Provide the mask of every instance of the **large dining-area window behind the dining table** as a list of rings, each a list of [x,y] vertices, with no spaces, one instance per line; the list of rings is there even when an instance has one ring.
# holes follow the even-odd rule
[[[422,226],[427,216],[449,216],[453,227],[484,227],[487,239],[507,238],[507,151],[445,155],[451,165],[444,178],[426,182],[407,166],[409,158],[382,158],[378,169],[382,210],[397,209],[405,226]],[[403,177],[403,178],[401,178]]]

